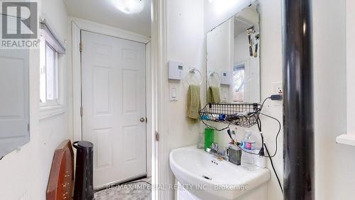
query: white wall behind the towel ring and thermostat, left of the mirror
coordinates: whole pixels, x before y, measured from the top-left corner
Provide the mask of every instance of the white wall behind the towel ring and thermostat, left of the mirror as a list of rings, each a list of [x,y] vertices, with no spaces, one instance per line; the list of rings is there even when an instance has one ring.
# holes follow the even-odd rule
[[[178,60],[188,68],[197,68],[204,73],[204,32],[203,0],[167,0],[167,59]],[[184,77],[185,78],[185,77]],[[169,85],[178,85],[178,102],[169,103],[169,147],[175,149],[197,143],[200,123],[193,123],[186,117],[187,89],[185,80],[170,81]],[[204,95],[204,84],[202,97]],[[204,100],[205,98],[201,98]],[[205,102],[205,101],[204,101]],[[204,103],[202,102],[202,104]],[[174,183],[170,171],[170,183]],[[173,199],[173,194],[171,194]]]

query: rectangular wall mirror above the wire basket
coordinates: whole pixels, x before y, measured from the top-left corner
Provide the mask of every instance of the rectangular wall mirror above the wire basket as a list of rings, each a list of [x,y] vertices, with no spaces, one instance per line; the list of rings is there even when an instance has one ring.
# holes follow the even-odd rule
[[[260,45],[257,1],[207,33],[207,102],[260,102]]]

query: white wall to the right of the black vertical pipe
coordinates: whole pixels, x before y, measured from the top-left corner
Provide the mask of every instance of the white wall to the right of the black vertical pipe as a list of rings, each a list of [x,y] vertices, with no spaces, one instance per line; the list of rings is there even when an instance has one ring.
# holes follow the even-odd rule
[[[353,112],[346,110],[346,7],[351,6],[354,1],[313,1],[317,200],[355,196],[355,147],[335,143],[346,133],[346,112]]]

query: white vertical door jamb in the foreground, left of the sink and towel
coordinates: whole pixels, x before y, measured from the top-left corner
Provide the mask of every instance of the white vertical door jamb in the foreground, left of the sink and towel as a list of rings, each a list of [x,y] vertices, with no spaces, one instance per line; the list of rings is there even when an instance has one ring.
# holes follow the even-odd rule
[[[153,184],[169,186],[170,165],[169,165],[169,106],[168,106],[168,68],[166,58],[166,0],[153,0],[152,19],[152,70],[155,103],[155,132],[159,135],[159,142],[153,145],[155,159],[153,160],[152,180]],[[153,188],[154,189],[154,188]],[[155,189],[152,192],[155,200],[172,200],[174,191],[170,189]]]

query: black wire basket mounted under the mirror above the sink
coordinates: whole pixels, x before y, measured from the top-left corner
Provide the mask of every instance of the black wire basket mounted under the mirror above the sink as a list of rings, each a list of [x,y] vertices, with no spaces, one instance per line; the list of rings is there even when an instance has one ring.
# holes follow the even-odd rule
[[[207,103],[200,110],[200,119],[249,128],[258,122],[260,107],[257,103]]]

